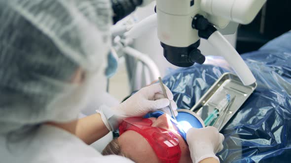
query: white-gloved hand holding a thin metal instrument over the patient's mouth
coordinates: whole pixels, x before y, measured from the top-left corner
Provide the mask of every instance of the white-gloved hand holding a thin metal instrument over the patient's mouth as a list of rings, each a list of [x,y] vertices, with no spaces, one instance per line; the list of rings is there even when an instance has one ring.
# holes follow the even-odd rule
[[[162,109],[171,115],[168,108],[170,104],[175,116],[177,116],[177,105],[173,101],[173,94],[166,85],[165,88],[169,100],[163,96],[161,85],[156,83],[142,88],[116,107],[108,108],[103,106],[97,111],[101,113],[102,120],[109,131],[116,130],[118,124],[124,118],[144,116],[146,113],[157,109]]]

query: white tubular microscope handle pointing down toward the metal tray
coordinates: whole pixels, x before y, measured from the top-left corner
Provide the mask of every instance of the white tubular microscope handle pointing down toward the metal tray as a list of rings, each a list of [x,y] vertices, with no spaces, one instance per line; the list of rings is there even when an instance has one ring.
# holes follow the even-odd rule
[[[245,85],[251,85],[256,81],[245,61],[218,30],[207,40],[218,50],[219,55],[224,57]]]

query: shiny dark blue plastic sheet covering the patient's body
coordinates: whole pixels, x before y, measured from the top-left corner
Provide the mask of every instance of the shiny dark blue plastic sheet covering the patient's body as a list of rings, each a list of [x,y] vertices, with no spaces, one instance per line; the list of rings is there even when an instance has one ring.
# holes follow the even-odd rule
[[[289,163],[291,158],[291,32],[242,57],[257,88],[222,130],[224,163]],[[214,59],[215,61],[216,59]],[[218,59],[219,60],[219,59]],[[190,109],[229,67],[195,64],[175,70],[163,82],[178,108]]]

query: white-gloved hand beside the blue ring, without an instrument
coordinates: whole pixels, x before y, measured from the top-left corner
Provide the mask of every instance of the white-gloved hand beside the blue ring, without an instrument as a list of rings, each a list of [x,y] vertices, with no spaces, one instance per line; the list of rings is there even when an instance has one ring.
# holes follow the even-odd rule
[[[192,128],[188,130],[186,140],[193,163],[199,163],[207,158],[215,158],[219,162],[215,155],[223,149],[224,136],[215,127]]]

